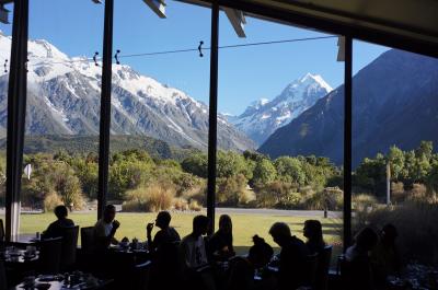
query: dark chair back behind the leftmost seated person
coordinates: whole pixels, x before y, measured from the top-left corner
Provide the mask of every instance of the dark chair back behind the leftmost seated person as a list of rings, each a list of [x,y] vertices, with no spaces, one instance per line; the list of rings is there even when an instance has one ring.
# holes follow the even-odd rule
[[[62,237],[42,240],[39,242],[39,271],[58,274],[61,265]]]

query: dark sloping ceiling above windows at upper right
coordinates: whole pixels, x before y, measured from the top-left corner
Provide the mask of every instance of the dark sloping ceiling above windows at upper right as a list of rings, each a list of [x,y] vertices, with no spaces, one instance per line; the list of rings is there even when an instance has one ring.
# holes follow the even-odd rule
[[[178,1],[210,7],[214,0]],[[437,0],[218,0],[218,3],[242,10],[247,16],[438,57]]]

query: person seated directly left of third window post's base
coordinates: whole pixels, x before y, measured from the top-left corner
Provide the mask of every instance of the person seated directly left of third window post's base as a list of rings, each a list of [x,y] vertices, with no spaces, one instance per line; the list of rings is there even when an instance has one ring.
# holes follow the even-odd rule
[[[196,269],[208,264],[204,236],[207,234],[209,219],[196,216],[193,219],[193,231],[181,242],[181,254],[187,269]]]

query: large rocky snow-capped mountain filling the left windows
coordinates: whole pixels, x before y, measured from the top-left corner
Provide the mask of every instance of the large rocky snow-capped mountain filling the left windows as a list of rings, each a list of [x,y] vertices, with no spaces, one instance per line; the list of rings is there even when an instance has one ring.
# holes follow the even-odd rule
[[[0,34],[0,62],[9,59],[11,38]],[[61,53],[46,40],[28,42],[28,135],[97,135],[102,67],[84,57]],[[129,66],[113,65],[114,135],[147,135],[171,144],[207,148],[208,106],[141,76]],[[0,70],[0,127],[7,126],[8,73]],[[254,143],[218,116],[218,147],[245,150]]]

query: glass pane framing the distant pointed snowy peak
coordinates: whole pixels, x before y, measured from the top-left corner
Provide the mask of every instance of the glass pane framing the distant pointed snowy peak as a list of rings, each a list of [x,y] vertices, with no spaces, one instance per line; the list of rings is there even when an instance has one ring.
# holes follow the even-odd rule
[[[221,15],[220,45],[242,46],[220,49],[219,118],[247,141],[218,152],[218,216],[231,216],[241,254],[254,234],[278,251],[268,234],[274,222],[286,222],[306,242],[304,221],[318,220],[336,260],[344,126],[337,38],[254,18],[246,22],[247,37],[238,38]],[[309,37],[318,39],[300,40]]]

